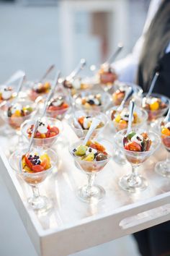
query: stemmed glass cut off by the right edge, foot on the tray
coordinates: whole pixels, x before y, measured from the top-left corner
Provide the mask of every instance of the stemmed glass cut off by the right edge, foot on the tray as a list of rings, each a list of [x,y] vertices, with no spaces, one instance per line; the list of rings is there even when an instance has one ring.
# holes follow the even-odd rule
[[[166,148],[167,157],[166,160],[156,163],[155,171],[161,176],[170,178],[170,136],[161,133],[161,142]]]

